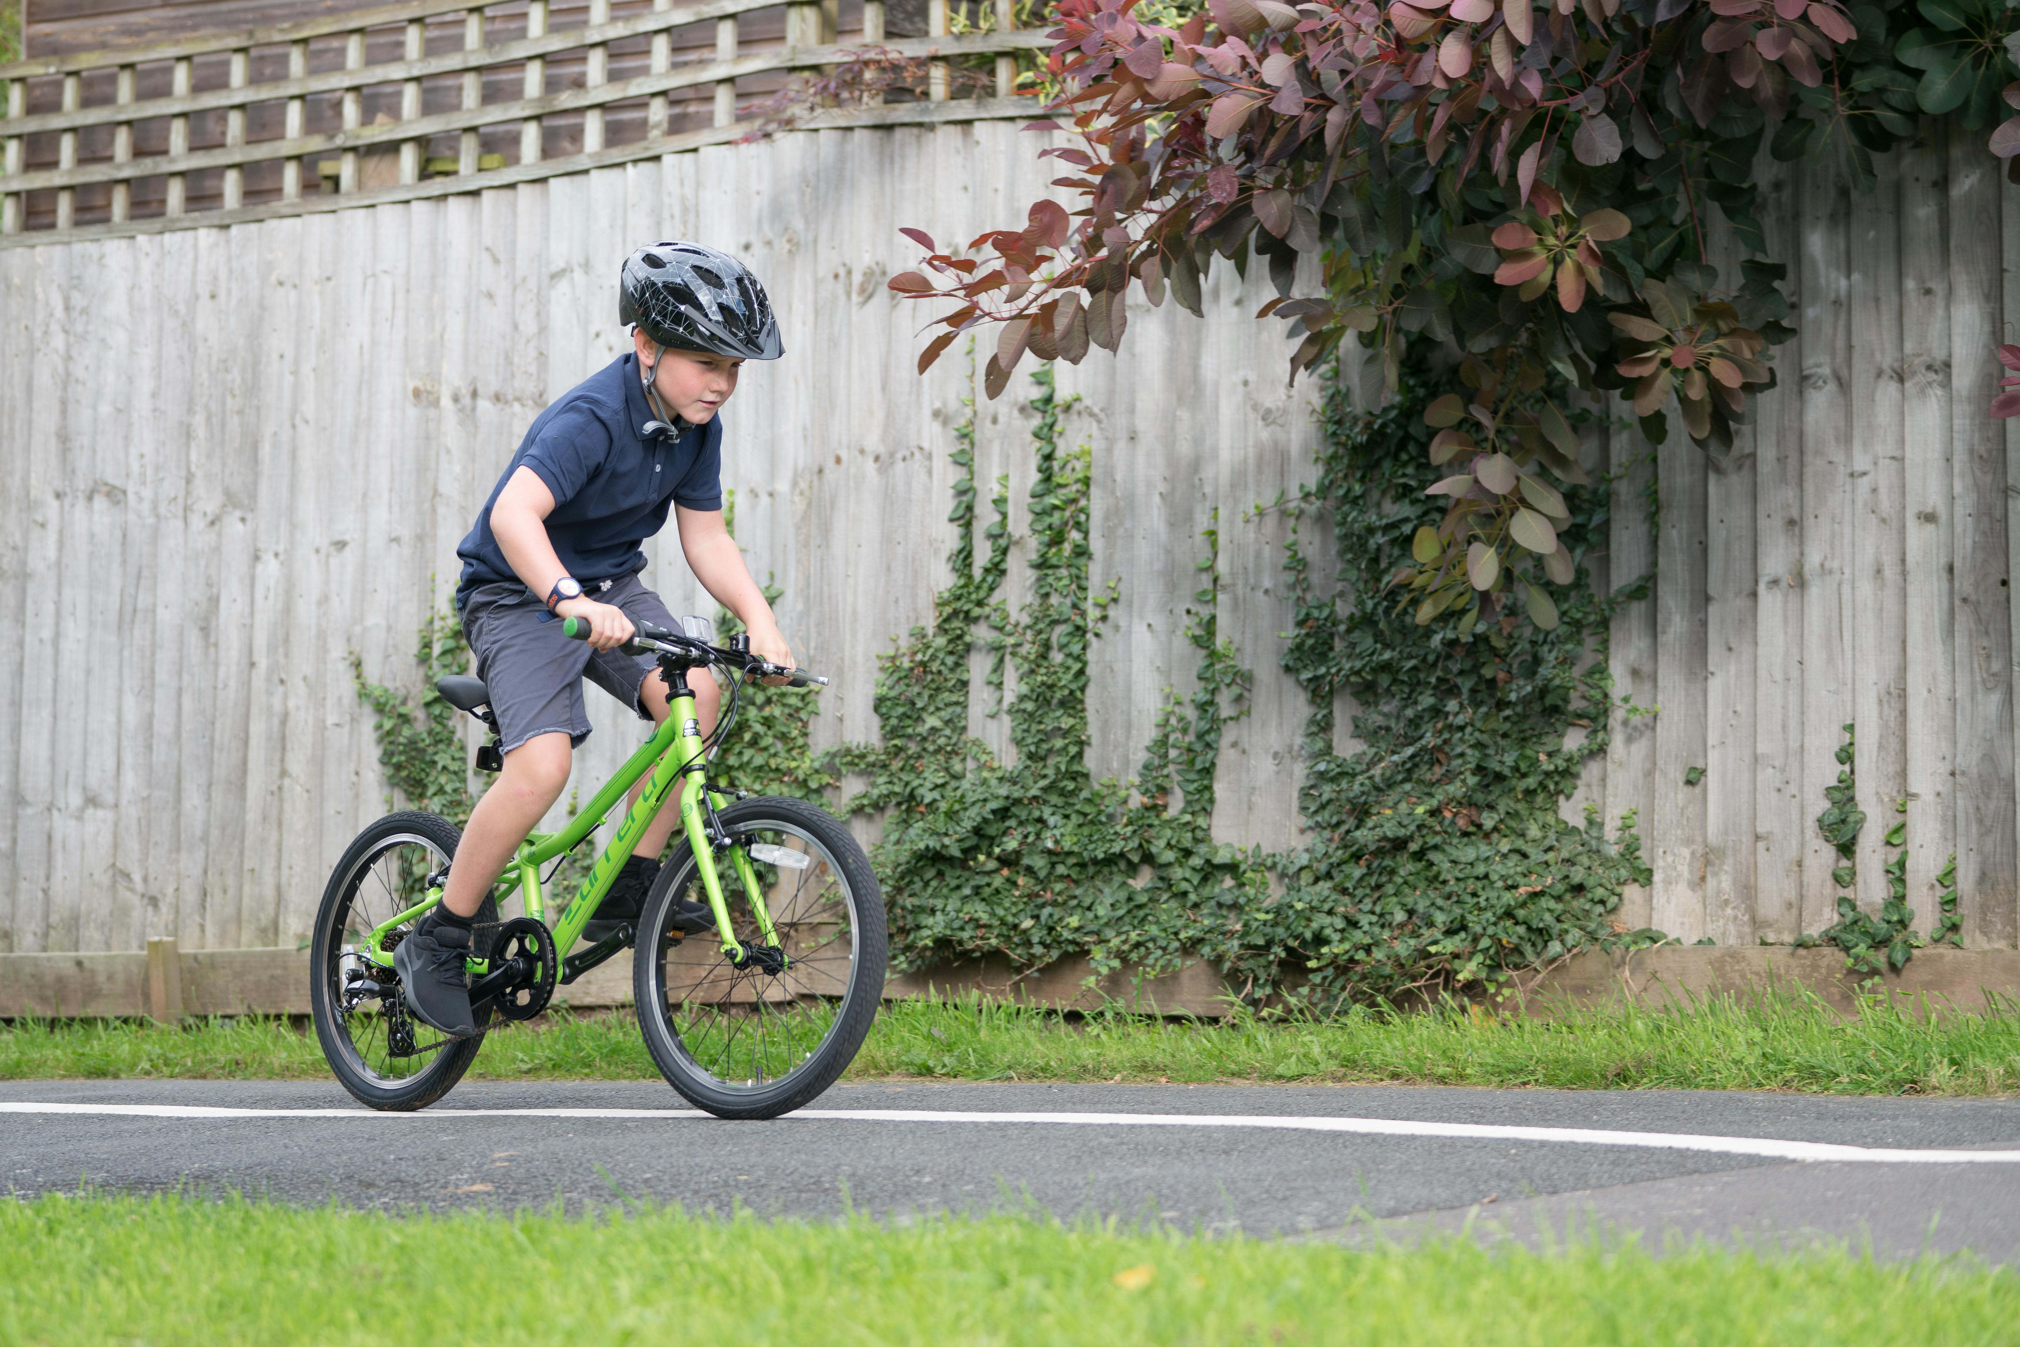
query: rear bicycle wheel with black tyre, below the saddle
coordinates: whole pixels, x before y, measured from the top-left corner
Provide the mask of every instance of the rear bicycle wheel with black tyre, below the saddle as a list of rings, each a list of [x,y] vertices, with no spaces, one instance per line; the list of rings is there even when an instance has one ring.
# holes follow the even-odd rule
[[[354,945],[356,937],[364,935],[364,931],[418,901],[408,893],[416,880],[404,872],[398,874],[398,885],[380,872],[378,878],[384,895],[370,895],[368,901],[362,901],[360,893],[370,889],[374,866],[392,856],[396,848],[406,848],[402,856],[412,852],[414,860],[426,858],[430,862],[426,872],[432,872],[457,854],[457,842],[461,840],[463,832],[438,814],[422,814],[420,810],[388,814],[351,840],[337,866],[329,872],[329,885],[323,889],[323,901],[315,911],[315,933],[309,941],[309,1010],[315,1018],[315,1038],[337,1082],[349,1091],[351,1099],[372,1109],[388,1113],[426,1109],[463,1078],[463,1072],[477,1060],[477,1050],[485,1040],[483,1022],[471,1038],[446,1038],[412,1020],[410,1028],[416,1034],[416,1044],[422,1036],[430,1038],[430,1046],[422,1046],[416,1054],[428,1060],[412,1074],[382,1074],[374,1068],[372,1054],[360,1048],[351,1026],[360,1024],[368,1034],[382,1030],[390,1036],[390,1018],[382,1012],[372,1012],[368,1018],[380,1024],[368,1026],[360,1022],[364,1014],[362,1006],[345,1012],[341,1004],[345,967],[358,963],[356,949],[347,945]],[[410,868],[414,866],[404,860],[396,862],[396,870]],[[394,903],[400,903],[400,907],[394,907]],[[386,911],[378,911],[380,907]],[[497,903],[491,897],[485,897],[483,907],[477,909],[477,921],[497,921]],[[345,941],[345,935],[354,939]],[[489,1016],[483,1018],[489,1020]],[[380,1054],[380,1062],[388,1066],[400,1060],[412,1058],[394,1058],[390,1056],[390,1048],[386,1054]]]

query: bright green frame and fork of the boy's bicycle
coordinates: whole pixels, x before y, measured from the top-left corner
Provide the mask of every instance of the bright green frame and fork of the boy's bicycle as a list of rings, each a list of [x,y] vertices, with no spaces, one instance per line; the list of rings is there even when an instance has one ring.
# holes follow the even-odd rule
[[[582,937],[582,927],[590,923],[596,909],[602,905],[604,895],[610,893],[610,885],[616,883],[618,870],[624,860],[638,846],[638,838],[644,836],[646,826],[659,816],[661,806],[667,804],[667,796],[673,794],[675,782],[681,782],[681,824],[687,832],[687,844],[695,852],[695,864],[701,870],[701,887],[709,895],[709,911],[715,917],[715,933],[723,941],[723,953],[729,957],[741,957],[743,945],[737,941],[729,927],[729,905],[723,901],[723,883],[715,868],[715,846],[709,838],[707,810],[701,808],[701,794],[707,790],[705,780],[705,759],[701,751],[701,723],[695,719],[695,695],[681,693],[675,695],[667,719],[659,725],[650,739],[638,745],[638,751],[618,767],[618,773],[596,792],[596,798],[576,814],[574,820],[560,832],[535,832],[529,834],[525,842],[519,844],[519,852],[513,864],[507,866],[505,874],[499,876],[499,885],[517,880],[519,893],[525,897],[525,915],[545,921],[545,901],[539,891],[539,866],[547,864],[556,856],[574,850],[590,836],[598,826],[602,826],[604,816],[616,808],[618,800],[638,782],[638,778],[650,771],[644,794],[624,816],[618,834],[610,840],[610,846],[596,858],[590,868],[590,876],[576,891],[576,901],[568,905],[562,915],[562,923],[553,927],[553,939],[558,949],[572,949],[576,939]],[[727,804],[727,798],[711,792],[711,802],[717,806]],[[758,931],[768,945],[778,945],[778,927],[772,925],[772,913],[766,909],[764,891],[758,887],[758,874],[751,868],[751,860],[741,846],[729,846],[729,858],[735,866],[735,874],[743,880],[743,893],[749,897],[751,915],[758,919]],[[386,935],[394,927],[414,921],[422,913],[430,911],[442,901],[440,889],[428,889],[426,901],[398,913],[396,917],[380,923],[364,941],[364,955],[380,965],[390,965],[392,955],[384,951]],[[473,971],[487,971],[487,965],[479,959],[471,961]]]

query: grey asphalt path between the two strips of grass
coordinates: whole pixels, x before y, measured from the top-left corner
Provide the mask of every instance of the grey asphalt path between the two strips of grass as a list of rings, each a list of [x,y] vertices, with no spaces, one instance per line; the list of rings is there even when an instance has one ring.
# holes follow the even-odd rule
[[[14,1111],[32,1103],[335,1113]],[[505,1109],[572,1113],[497,1113]],[[911,1113],[1026,1117],[913,1121],[905,1117]],[[1085,1125],[1089,1113],[1184,1117]],[[1081,1115],[1081,1125],[1058,1115]],[[1602,1129],[1642,1137],[1626,1145],[1620,1137],[1555,1131],[1420,1135],[1450,1123],[1460,1131]],[[1388,1127],[1402,1135],[1323,1127]],[[1671,1135],[1749,1141],[1664,1139]],[[1790,1141],[1864,1151],[1850,1161],[1774,1153]],[[1693,1149],[1701,1145],[1733,1149]],[[1996,1163],[1899,1155],[1931,1149],[2014,1155]],[[1881,1163],[1889,1153],[1895,1163]],[[580,1208],[630,1196],[689,1210],[832,1216],[852,1208],[897,1220],[1038,1206],[1060,1216],[1095,1212],[1262,1236],[1370,1240],[1471,1228],[1483,1238],[1533,1242],[1594,1228],[1632,1232],[1650,1244],[1705,1236],[1794,1246],[1824,1238],[1889,1258],[1970,1248],[1992,1262],[2020,1262],[2020,1101],[844,1084],[790,1119],[723,1123],[687,1115],[683,1101],[656,1082],[465,1082],[426,1113],[376,1115],[339,1086],[317,1082],[16,1080],[0,1082],[0,1173],[22,1196],[89,1183],[240,1189],[390,1210],[558,1200]]]

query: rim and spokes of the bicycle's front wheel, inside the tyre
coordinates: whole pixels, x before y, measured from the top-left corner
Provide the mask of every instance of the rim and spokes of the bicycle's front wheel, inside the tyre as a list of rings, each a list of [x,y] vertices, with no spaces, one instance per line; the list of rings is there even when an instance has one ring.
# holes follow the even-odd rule
[[[818,1068],[846,1002],[858,994],[858,909],[838,858],[804,828],[762,820],[737,822],[733,830],[751,844],[806,856],[804,868],[751,866],[788,963],[780,973],[737,969],[713,929],[669,945],[663,925],[656,937],[663,1024],[679,1062],[711,1089],[770,1095]],[[721,883],[737,939],[760,943],[743,880],[727,860]],[[707,903],[693,860],[675,878],[675,897]]]

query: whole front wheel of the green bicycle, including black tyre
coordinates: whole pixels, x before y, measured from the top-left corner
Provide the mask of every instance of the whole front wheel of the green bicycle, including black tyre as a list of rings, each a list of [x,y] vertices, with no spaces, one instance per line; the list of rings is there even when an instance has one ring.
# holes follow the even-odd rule
[[[760,872],[760,883],[776,876],[768,907],[792,961],[778,973],[737,969],[715,931],[677,937],[675,901],[703,897],[693,850],[681,842],[638,923],[638,1030],[667,1084],[691,1105],[723,1119],[774,1119],[834,1084],[877,1018],[889,963],[883,891],[846,824],[804,800],[743,800],[721,810],[721,822],[731,836],[780,838],[766,844],[806,852],[804,864],[766,862]],[[721,880],[739,939],[753,939],[755,919],[727,862]]]

